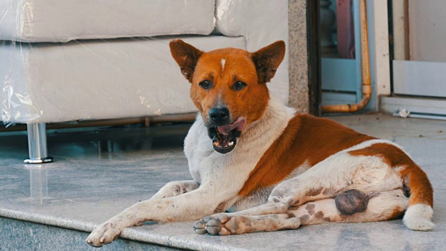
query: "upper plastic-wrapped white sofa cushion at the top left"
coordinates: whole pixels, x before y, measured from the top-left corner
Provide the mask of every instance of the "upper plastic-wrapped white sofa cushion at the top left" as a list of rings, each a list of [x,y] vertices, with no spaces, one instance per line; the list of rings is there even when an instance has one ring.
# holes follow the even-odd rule
[[[1,0],[0,40],[210,34],[215,0]]]

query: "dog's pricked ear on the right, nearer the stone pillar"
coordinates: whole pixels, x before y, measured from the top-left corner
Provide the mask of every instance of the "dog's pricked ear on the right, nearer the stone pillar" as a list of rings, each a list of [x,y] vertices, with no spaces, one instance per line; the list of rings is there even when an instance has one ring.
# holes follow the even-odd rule
[[[277,41],[252,53],[252,61],[257,70],[259,83],[268,83],[285,56],[285,42]]]

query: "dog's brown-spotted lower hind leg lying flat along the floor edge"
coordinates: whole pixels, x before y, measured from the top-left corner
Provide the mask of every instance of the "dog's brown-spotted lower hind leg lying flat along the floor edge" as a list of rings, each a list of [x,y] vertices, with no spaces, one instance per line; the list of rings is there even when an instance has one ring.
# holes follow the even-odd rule
[[[339,202],[346,196],[355,197],[355,195],[348,195],[348,191],[340,193],[335,198],[307,202],[301,206],[290,208],[289,211],[282,214],[249,216],[226,214],[225,217],[220,215],[219,218],[210,216],[195,223],[194,229],[197,234],[231,235],[255,231],[297,229],[300,225],[316,225],[326,222],[375,222],[401,218],[408,205],[408,198],[400,189],[374,195],[368,199],[367,208],[355,203],[355,199],[348,200],[344,204]],[[357,206],[356,210],[353,208],[354,205]],[[348,212],[346,208],[350,208],[352,211]],[[355,211],[359,212],[354,213]]]

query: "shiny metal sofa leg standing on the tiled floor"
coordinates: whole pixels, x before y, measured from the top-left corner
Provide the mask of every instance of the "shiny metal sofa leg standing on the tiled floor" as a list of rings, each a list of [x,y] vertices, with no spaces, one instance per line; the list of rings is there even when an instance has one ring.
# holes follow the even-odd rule
[[[53,161],[52,157],[48,157],[45,123],[28,124],[28,148],[29,158],[24,160],[24,163],[40,164]]]

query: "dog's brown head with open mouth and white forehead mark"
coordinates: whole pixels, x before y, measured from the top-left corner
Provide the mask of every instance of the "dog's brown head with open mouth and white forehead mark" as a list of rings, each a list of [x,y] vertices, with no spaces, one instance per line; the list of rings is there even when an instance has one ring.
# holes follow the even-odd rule
[[[235,48],[201,52],[182,40],[169,45],[181,74],[192,84],[190,97],[215,151],[229,153],[243,130],[258,121],[268,106],[266,83],[284,59],[284,41],[252,53]]]

